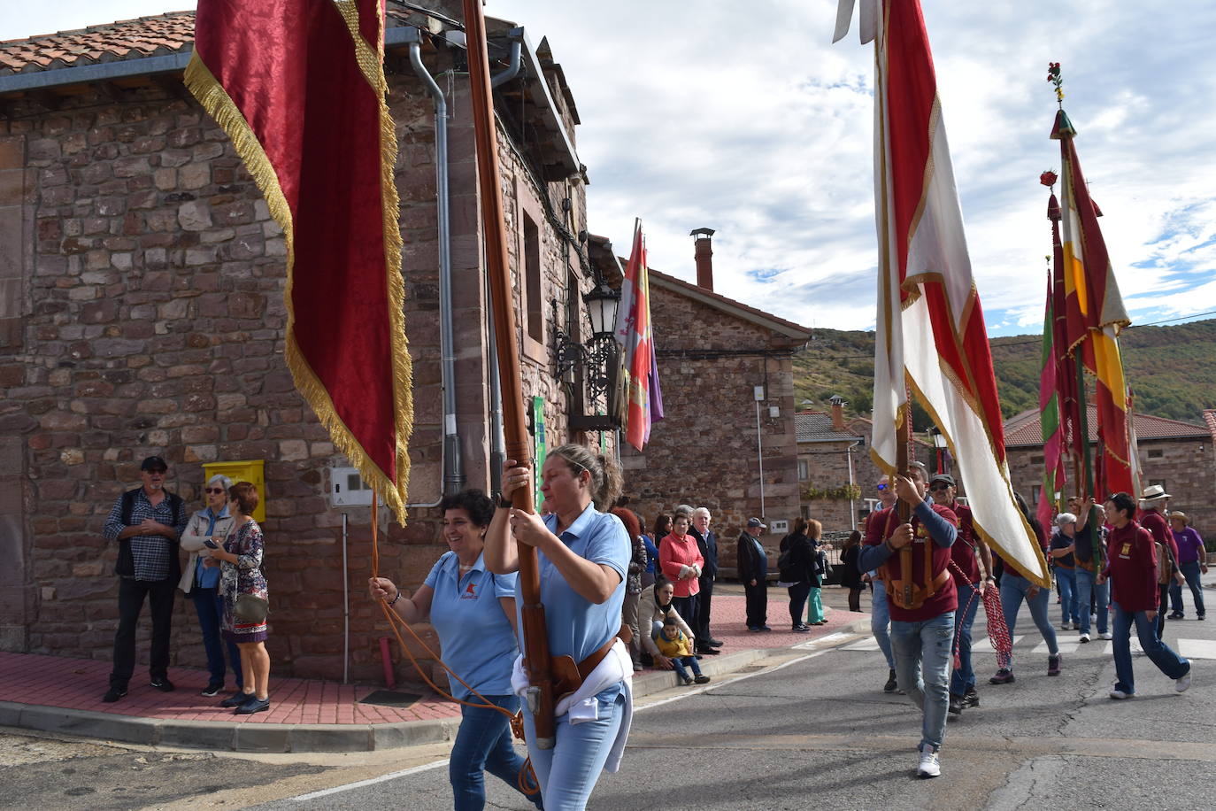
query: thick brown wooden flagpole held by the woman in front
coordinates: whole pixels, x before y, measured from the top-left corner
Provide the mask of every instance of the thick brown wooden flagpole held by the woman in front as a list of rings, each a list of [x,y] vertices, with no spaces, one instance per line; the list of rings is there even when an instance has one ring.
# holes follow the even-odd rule
[[[499,147],[494,124],[494,95],[490,88],[490,60],[485,44],[482,0],[465,0],[465,38],[472,88],[473,134],[477,142],[477,180],[485,233],[485,259],[490,280],[490,308],[494,312],[494,343],[502,382],[502,430],[506,455],[527,467],[534,466],[531,443],[524,423],[523,384],[516,347],[516,309],[511,294],[511,265],[507,259],[506,224],[502,219],[502,185],[499,178]],[[531,488],[516,490],[516,509],[535,512]],[[553,675],[548,653],[545,607],[540,602],[540,569],[536,550],[518,545],[519,585],[523,595],[520,618],[524,636],[524,670],[528,674],[527,710],[533,713],[536,745],[552,749]]]

